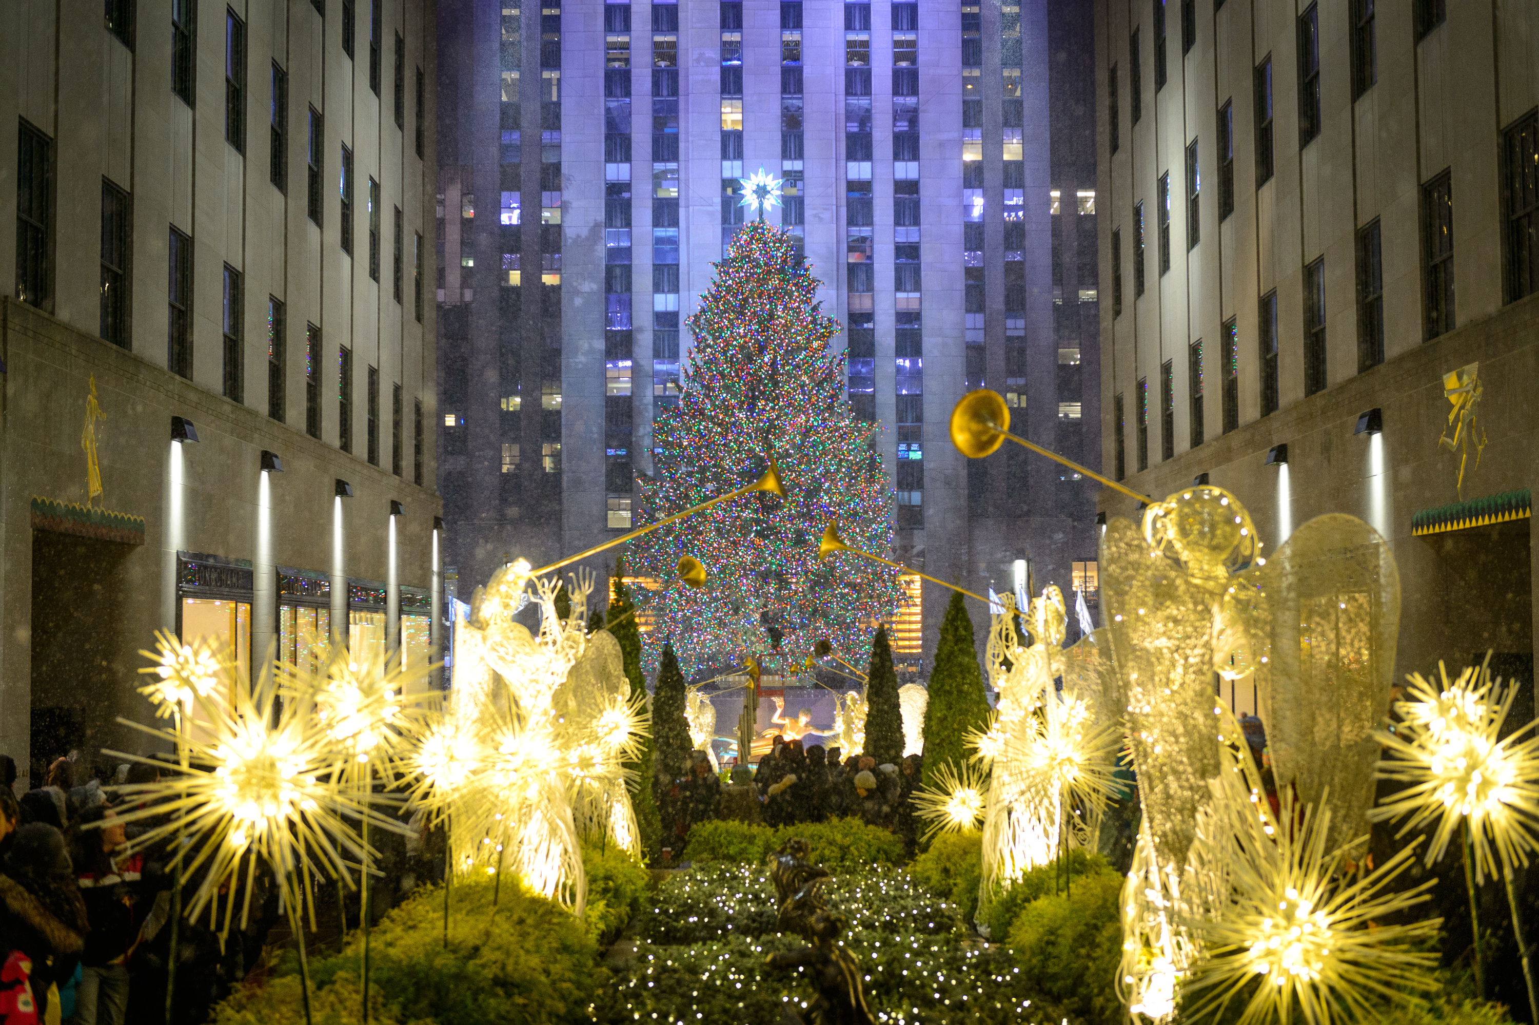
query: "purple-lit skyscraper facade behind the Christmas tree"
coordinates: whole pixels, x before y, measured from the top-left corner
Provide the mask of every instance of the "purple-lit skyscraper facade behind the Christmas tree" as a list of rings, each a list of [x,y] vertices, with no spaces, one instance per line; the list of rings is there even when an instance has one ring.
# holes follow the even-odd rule
[[[1079,380],[1093,49],[1088,6],[1062,6],[440,5],[440,485],[462,589],[642,522],[633,482],[679,394],[683,323],[760,171],[845,325],[897,556],[971,589],[1013,589],[1017,560],[1039,586],[1070,591],[1076,563],[1083,580],[1088,482],[1023,451],[968,465],[946,431],[986,385],[1033,440],[1099,449]],[[1050,117],[1056,92],[1076,123]],[[905,585],[899,656],[919,668],[945,594]]]

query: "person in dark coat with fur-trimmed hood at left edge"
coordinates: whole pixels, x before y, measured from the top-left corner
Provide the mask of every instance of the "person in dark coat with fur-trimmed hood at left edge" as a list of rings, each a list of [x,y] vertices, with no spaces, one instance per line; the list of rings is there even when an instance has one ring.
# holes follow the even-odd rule
[[[0,1003],[25,1000],[46,1020],[49,987],[74,976],[89,931],[63,834],[45,822],[17,830],[0,863]]]

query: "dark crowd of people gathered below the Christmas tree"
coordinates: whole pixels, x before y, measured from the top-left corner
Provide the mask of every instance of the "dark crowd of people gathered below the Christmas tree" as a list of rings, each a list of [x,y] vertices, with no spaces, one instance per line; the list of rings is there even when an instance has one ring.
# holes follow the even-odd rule
[[[900,763],[877,765],[863,754],[843,757],[839,748],[776,736],[771,750],[749,771],[733,771],[734,783],[753,788],[760,819],[782,826],[802,822],[856,817],[868,825],[891,830],[903,839],[913,856],[919,845],[919,823],[910,797],[919,788],[923,760],[910,754]],[[673,782],[660,802],[673,819],[673,834],[680,840],[689,826],[722,816],[722,782],[703,751],[689,756],[688,773]]]

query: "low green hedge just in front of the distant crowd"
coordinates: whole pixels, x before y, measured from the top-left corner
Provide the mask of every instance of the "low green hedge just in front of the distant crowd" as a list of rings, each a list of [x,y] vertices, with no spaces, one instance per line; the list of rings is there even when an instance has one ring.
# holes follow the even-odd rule
[[[831,819],[788,826],[763,826],[717,819],[697,822],[689,830],[683,859],[689,862],[733,862],[762,865],[791,837],[802,837],[811,846],[808,860],[830,871],[897,865],[903,860],[903,840],[886,830],[859,819]]]

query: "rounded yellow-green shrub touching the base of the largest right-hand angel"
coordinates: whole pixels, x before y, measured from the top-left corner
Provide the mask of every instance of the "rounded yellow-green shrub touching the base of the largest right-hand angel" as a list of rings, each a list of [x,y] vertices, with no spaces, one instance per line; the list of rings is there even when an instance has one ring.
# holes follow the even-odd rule
[[[1051,1000],[1090,1025],[1120,1025],[1122,876],[1082,876],[1068,894],[1033,900],[1010,927],[1008,947],[1022,973]]]

